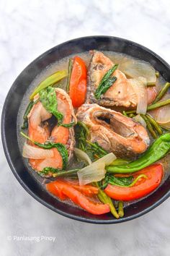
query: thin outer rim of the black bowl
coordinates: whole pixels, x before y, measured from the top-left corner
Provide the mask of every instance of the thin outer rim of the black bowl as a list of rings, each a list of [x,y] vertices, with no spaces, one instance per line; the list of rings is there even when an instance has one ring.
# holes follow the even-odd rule
[[[131,40],[127,40],[127,39],[124,39],[124,38],[119,38],[119,37],[115,37],[115,36],[111,36],[111,35],[90,35],[90,36],[84,36],[84,37],[81,37],[81,38],[74,38],[74,39],[71,39],[71,40],[67,40],[63,43],[58,44],[57,46],[54,46],[53,48],[50,48],[48,51],[45,51],[43,54],[40,54],[40,56],[37,56],[37,58],[34,59],[32,62],[30,62],[30,64],[28,64],[27,67],[25,67],[22,70],[22,72],[24,72],[27,68],[31,67],[32,64],[35,64],[37,60],[42,59],[43,57],[45,57],[48,54],[50,54],[51,52],[53,52],[55,50],[55,48],[60,48],[61,46],[63,46],[66,43],[74,42],[76,40],[84,40],[84,39],[87,39],[87,38],[89,38],[89,39],[112,38],[112,39],[115,39],[115,40],[122,40],[125,43],[130,43],[133,46],[137,46],[139,48],[142,48],[144,51],[148,52],[149,54],[152,54],[154,57],[156,57],[156,59],[161,61],[166,67],[168,67],[170,69],[169,64],[166,61],[164,61],[164,59],[162,59],[161,56],[158,56],[156,53],[151,51],[149,48],[146,48],[145,46],[142,46],[139,43],[135,43]],[[12,95],[12,91],[14,89],[15,82],[18,80],[18,78],[19,78],[20,74],[22,74],[22,72],[20,72],[19,75],[17,76],[17,78],[14,80],[11,88],[9,89],[9,92],[6,95],[5,101],[4,101],[4,106],[3,106],[3,109],[2,109],[2,113],[1,113],[1,140],[2,140],[2,145],[3,145],[3,148],[4,148],[4,153],[5,153],[5,156],[6,156],[6,160],[9,164],[9,167],[12,170],[12,173],[16,177],[19,184],[21,184],[22,187],[28,192],[28,194],[30,194],[32,197],[34,197],[35,200],[37,200],[38,202],[40,202],[42,205],[46,206],[50,210],[55,211],[55,213],[59,213],[59,214],[61,214],[61,216],[65,216],[65,217],[71,218],[71,219],[76,220],[76,221],[81,221],[81,222],[86,222],[86,223],[95,223],[95,224],[112,224],[112,223],[121,223],[121,222],[125,222],[125,221],[130,221],[130,220],[133,220],[133,219],[138,218],[140,216],[143,216],[144,214],[146,214],[146,213],[150,212],[151,210],[153,210],[154,208],[156,208],[158,205],[161,205],[161,203],[164,202],[170,196],[170,190],[169,190],[168,192],[166,192],[166,194],[163,197],[161,197],[161,199],[159,199],[155,203],[153,203],[153,205],[149,206],[145,210],[140,211],[140,213],[133,214],[132,216],[123,217],[123,218],[119,218],[119,219],[113,218],[111,220],[98,220],[98,219],[95,220],[95,219],[92,219],[92,218],[85,218],[85,217],[82,217],[82,216],[75,216],[71,213],[63,212],[62,210],[59,210],[59,209],[55,208],[53,205],[50,205],[48,202],[45,202],[45,200],[42,200],[42,198],[40,196],[35,195],[35,193],[32,192],[32,189],[30,189],[27,186],[27,184],[25,184],[22,181],[22,178],[19,176],[19,174],[17,173],[17,171],[15,170],[15,168],[13,166],[12,159],[10,157],[10,153],[9,153],[7,143],[6,143],[5,129],[4,129],[5,115],[6,115],[6,105],[9,101],[9,98]]]

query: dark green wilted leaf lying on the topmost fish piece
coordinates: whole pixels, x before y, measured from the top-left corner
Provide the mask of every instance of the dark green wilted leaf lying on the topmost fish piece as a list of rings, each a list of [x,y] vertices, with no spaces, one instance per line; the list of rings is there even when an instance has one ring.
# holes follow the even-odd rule
[[[101,95],[106,93],[106,91],[112,86],[112,84],[117,80],[117,77],[112,77],[113,72],[117,69],[118,64],[115,64],[109,71],[104,74],[104,77],[102,78],[101,82],[99,83],[99,86],[97,90],[94,93],[94,96],[99,100],[101,98]]]

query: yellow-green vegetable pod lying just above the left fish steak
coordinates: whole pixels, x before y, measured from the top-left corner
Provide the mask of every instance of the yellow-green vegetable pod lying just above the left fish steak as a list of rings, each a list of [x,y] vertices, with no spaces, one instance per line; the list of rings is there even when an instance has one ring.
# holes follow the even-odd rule
[[[48,86],[55,85],[56,82],[58,82],[59,80],[63,79],[66,76],[67,76],[66,70],[57,71],[54,74],[51,74],[50,77],[47,77],[44,81],[40,82],[40,85],[38,85],[37,88],[35,88],[32,95],[30,95],[30,100],[32,101],[34,96],[37,93],[40,93],[40,90],[48,88]]]

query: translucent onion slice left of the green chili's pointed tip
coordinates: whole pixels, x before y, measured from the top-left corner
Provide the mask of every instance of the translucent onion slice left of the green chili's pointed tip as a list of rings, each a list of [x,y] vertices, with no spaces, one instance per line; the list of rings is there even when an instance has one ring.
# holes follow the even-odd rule
[[[91,182],[99,182],[101,179],[104,179],[106,174],[105,166],[109,166],[115,159],[116,156],[114,153],[109,153],[96,162],[91,163],[89,166],[82,168],[77,172],[79,184],[85,185]]]

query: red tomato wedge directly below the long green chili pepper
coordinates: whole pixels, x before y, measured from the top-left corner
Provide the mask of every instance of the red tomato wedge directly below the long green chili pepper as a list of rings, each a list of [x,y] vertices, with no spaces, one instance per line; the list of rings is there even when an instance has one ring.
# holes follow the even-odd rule
[[[104,192],[115,200],[130,201],[144,197],[151,193],[161,183],[163,166],[161,163],[153,164],[133,174],[136,178],[139,174],[146,174],[148,179],[140,179],[133,187],[119,187],[108,185]]]

